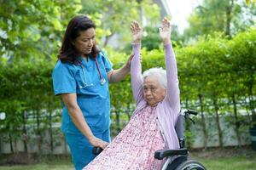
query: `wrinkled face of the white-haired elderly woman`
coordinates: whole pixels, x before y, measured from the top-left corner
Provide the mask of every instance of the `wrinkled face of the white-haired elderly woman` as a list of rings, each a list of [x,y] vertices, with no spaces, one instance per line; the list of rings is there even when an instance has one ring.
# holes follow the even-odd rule
[[[157,105],[166,97],[166,89],[160,85],[157,77],[148,76],[144,79],[143,95],[148,105]]]

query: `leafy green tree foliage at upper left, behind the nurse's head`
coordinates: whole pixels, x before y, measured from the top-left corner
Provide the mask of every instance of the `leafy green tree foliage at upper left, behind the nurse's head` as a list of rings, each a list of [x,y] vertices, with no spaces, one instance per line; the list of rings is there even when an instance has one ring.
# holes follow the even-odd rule
[[[76,1],[0,0],[2,60],[56,58],[67,21],[81,5]],[[69,5],[67,5],[69,4]]]

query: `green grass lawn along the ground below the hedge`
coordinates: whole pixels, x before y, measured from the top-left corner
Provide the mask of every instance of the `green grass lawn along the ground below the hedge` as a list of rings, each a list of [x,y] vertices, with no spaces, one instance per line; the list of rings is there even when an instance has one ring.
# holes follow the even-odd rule
[[[255,170],[256,151],[247,149],[211,149],[193,151],[191,159],[200,161],[208,170]],[[69,157],[50,157],[32,165],[0,166],[0,170],[72,170]]]

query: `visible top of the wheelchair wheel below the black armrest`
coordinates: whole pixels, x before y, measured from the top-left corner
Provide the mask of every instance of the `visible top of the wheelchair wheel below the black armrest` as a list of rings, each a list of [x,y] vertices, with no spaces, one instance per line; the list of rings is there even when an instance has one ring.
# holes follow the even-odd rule
[[[176,170],[206,170],[207,168],[204,167],[200,162],[189,160],[183,161],[182,164],[177,166]]]

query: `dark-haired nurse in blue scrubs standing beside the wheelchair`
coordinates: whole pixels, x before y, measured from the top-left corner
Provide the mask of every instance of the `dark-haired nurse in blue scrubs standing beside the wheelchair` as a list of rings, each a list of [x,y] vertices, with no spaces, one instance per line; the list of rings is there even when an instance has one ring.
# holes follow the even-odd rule
[[[52,77],[55,95],[63,100],[61,130],[75,168],[94,159],[93,146],[110,141],[109,82],[119,82],[130,71],[131,59],[113,70],[96,48],[96,26],[87,16],[70,20]]]

